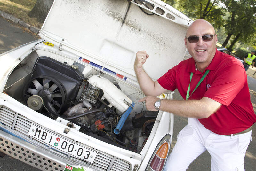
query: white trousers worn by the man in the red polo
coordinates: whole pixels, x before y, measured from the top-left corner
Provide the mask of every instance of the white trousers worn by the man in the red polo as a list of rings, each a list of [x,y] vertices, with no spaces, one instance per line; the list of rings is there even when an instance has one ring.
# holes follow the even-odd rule
[[[218,135],[196,118],[188,118],[188,125],[178,134],[164,171],[185,171],[205,150],[211,155],[211,171],[244,171],[251,134],[252,131],[234,136]]]

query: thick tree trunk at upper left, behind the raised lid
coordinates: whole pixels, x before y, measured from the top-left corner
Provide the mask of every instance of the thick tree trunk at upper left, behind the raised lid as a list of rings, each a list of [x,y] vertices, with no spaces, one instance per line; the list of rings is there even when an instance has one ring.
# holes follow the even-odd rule
[[[53,0],[37,0],[33,9],[28,13],[29,17],[35,17],[38,22],[43,23],[52,3]]]

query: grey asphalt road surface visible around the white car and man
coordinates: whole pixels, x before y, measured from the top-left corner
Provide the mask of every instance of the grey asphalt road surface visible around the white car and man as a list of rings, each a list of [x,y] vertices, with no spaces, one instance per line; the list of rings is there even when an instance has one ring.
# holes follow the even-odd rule
[[[20,29],[20,27],[6,21],[0,17],[0,54],[11,50],[22,44],[31,42],[38,39],[35,35],[31,35],[26,31]],[[248,84],[251,94],[251,101],[254,107],[254,112],[256,111],[256,80],[248,76]],[[175,91],[174,99],[182,99],[179,92]],[[188,119],[184,117],[174,116],[174,131],[172,138],[172,146],[176,142],[176,136],[179,131],[187,124]],[[8,155],[3,158],[0,157],[0,170],[33,170],[39,171],[38,169],[27,165],[17,159],[14,159]],[[247,149],[245,159],[245,170],[252,171],[256,170],[256,126],[253,125],[252,131],[252,141]],[[211,170],[211,156],[206,151],[198,158],[196,158],[189,166],[187,171],[210,171]]]

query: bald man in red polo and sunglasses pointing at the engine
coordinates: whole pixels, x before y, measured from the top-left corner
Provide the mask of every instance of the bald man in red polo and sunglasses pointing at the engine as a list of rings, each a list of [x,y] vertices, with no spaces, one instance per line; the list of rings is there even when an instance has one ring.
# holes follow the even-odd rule
[[[177,136],[164,171],[186,170],[207,150],[211,154],[211,171],[244,170],[244,156],[256,122],[247,76],[236,58],[217,51],[213,26],[194,21],[184,38],[192,58],[180,62],[157,81],[143,69],[149,55],[138,51],[134,70],[146,97],[146,108],[163,110],[188,117],[188,125]],[[168,57],[166,57],[168,58]],[[159,100],[168,90],[178,89],[184,100]]]

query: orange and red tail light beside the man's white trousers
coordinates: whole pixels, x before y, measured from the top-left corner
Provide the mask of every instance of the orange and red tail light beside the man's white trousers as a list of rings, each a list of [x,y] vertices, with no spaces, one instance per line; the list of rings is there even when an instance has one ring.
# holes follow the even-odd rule
[[[171,136],[169,134],[164,136],[159,142],[146,169],[147,171],[162,171],[164,169],[164,164],[170,150],[170,142]]]

